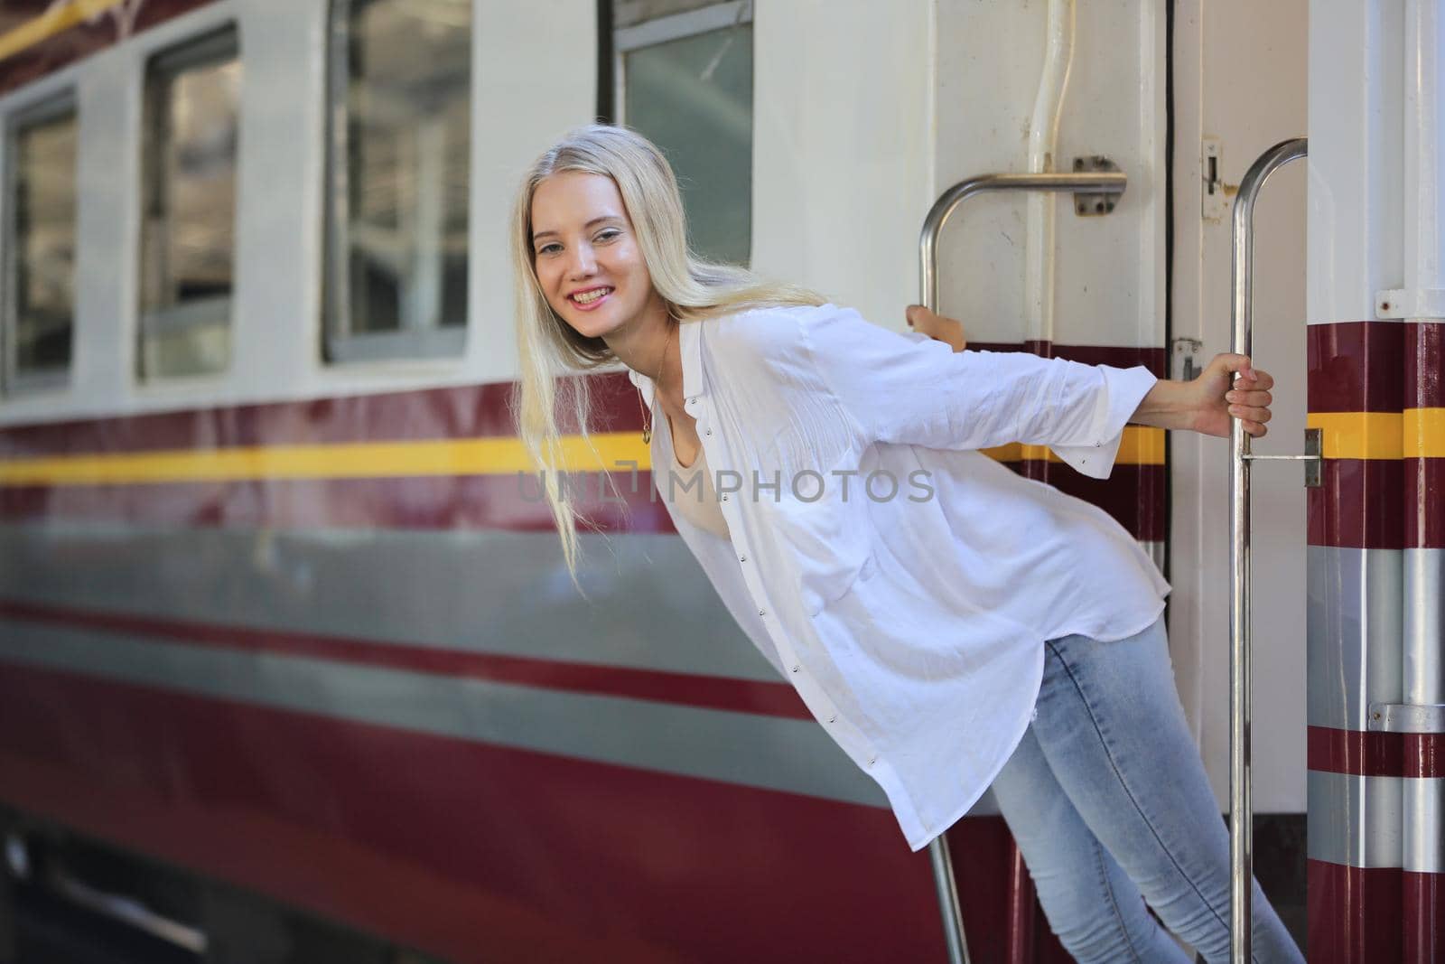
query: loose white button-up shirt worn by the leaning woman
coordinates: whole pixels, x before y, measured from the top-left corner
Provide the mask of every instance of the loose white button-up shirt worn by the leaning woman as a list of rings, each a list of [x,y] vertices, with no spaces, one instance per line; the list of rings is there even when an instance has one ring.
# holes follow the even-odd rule
[[[1159,617],[1169,591],[1101,509],[975,449],[1049,445],[1104,478],[1155,376],[954,353],[837,305],[683,324],[679,343],[683,405],[731,539],[669,503],[672,522],[920,850],[1013,754],[1043,640],[1124,639]],[[652,380],[630,377],[652,406]],[[652,445],[652,464],[670,465],[670,434],[653,432]]]

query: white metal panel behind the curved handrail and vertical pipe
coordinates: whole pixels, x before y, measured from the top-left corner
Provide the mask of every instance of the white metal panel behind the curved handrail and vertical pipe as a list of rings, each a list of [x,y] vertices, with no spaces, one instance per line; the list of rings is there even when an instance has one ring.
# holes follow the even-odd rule
[[[1045,20],[1045,4],[939,4],[935,197],[968,176],[1026,169]],[[1058,343],[1163,344],[1163,36],[1159,4],[1077,7],[1055,166],[1104,155],[1129,188],[1105,217],[1078,217],[1072,198],[1055,198]],[[942,311],[974,341],[1025,338],[1023,211],[1022,197],[971,199],[939,243]]]

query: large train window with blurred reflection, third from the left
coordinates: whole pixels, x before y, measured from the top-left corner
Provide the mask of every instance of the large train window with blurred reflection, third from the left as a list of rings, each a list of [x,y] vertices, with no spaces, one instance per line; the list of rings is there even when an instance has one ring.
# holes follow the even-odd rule
[[[461,354],[471,0],[332,0],[327,356]]]

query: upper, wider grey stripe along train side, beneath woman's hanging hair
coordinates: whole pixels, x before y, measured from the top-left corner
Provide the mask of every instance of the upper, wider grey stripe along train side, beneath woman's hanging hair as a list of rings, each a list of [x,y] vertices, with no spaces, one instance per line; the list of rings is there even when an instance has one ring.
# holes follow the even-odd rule
[[[0,597],[777,682],[675,535],[0,526]]]

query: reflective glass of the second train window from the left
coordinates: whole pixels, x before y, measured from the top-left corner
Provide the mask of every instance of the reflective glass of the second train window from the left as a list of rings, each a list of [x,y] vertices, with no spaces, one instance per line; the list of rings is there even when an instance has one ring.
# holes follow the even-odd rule
[[[146,66],[136,354],[143,379],[227,367],[240,91],[234,29]]]

